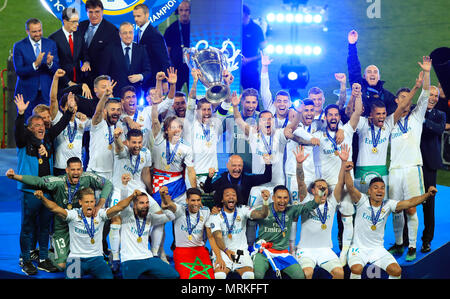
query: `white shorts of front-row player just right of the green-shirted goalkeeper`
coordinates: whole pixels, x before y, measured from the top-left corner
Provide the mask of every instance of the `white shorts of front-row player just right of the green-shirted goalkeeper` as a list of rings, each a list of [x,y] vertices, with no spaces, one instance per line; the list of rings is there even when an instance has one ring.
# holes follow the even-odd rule
[[[317,265],[328,272],[334,268],[342,268],[342,264],[331,248],[298,248],[295,258],[302,268],[313,268]]]

